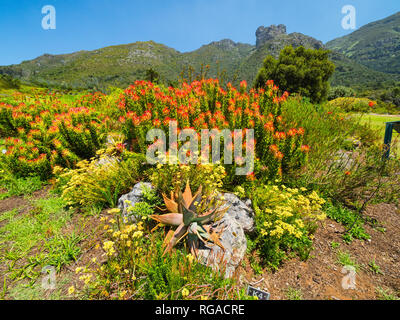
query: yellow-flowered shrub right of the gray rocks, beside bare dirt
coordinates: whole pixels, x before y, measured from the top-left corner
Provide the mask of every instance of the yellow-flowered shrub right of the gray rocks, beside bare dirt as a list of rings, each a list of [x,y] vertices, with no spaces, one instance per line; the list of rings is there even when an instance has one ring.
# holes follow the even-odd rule
[[[317,222],[326,218],[325,200],[315,191],[262,186],[253,195],[256,213],[256,245],[267,263],[277,269],[290,253],[305,259],[311,250]]]

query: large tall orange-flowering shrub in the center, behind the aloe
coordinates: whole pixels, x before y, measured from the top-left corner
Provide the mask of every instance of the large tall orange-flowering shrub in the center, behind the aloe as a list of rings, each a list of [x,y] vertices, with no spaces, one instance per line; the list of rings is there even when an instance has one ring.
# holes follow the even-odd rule
[[[178,133],[192,128],[198,135],[202,129],[254,129],[252,143],[257,162],[262,164],[259,171],[274,178],[301,166],[309,150],[302,144],[302,128],[286,128],[281,108],[288,93],[279,95],[278,91],[273,81],[267,90],[250,91],[245,81],[239,90],[231,84],[224,89],[216,79],[183,83],[179,88],[136,81],[121,95],[119,122],[133,149],[143,153],[149,145],[148,130],[160,128],[168,136],[170,121],[177,122]],[[254,173],[248,178],[254,179]]]

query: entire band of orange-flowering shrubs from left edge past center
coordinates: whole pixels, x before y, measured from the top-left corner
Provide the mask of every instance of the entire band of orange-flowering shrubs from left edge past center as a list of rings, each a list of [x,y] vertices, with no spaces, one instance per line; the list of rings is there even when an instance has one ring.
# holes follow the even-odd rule
[[[95,156],[111,131],[122,132],[133,151],[146,153],[152,144],[146,141],[147,132],[160,128],[168,137],[169,124],[176,121],[178,134],[192,128],[199,137],[202,129],[228,129],[233,138],[235,129],[244,129],[242,154],[247,153],[246,143],[255,146],[255,170],[247,179],[279,178],[304,164],[309,147],[303,144],[304,130],[285,123],[282,104],[288,93],[278,92],[273,81],[268,81],[266,89],[249,90],[245,81],[236,89],[208,79],[177,88],[136,81],[119,99],[94,93],[68,98],[65,103],[57,94],[19,94],[0,102],[0,134],[20,139],[23,148],[9,143],[3,157],[20,175],[34,173],[40,155],[41,161],[46,159],[46,165],[40,164],[46,168],[40,169],[43,172],[51,172],[49,168],[55,165],[74,167],[80,159]],[[254,129],[254,140],[245,139],[246,129]],[[233,144],[229,147],[233,150]],[[19,167],[18,161],[25,159],[31,161],[29,166]],[[229,177],[234,177],[240,160],[226,166]]]

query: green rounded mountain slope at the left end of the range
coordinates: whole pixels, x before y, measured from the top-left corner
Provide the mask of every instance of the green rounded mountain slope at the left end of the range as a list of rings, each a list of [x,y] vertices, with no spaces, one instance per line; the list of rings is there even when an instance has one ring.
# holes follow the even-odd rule
[[[64,55],[43,55],[20,65],[0,68],[26,81],[70,87],[106,85],[126,87],[156,69],[164,78],[176,78],[181,53],[153,41],[80,51]]]

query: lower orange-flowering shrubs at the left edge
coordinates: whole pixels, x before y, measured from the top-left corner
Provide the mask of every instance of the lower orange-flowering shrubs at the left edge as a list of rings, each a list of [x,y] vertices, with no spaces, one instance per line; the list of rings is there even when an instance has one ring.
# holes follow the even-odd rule
[[[46,179],[55,165],[71,168],[93,157],[107,135],[108,118],[94,108],[103,96],[88,94],[69,105],[55,94],[18,94],[0,103],[0,135],[10,136],[1,161],[17,176]]]

